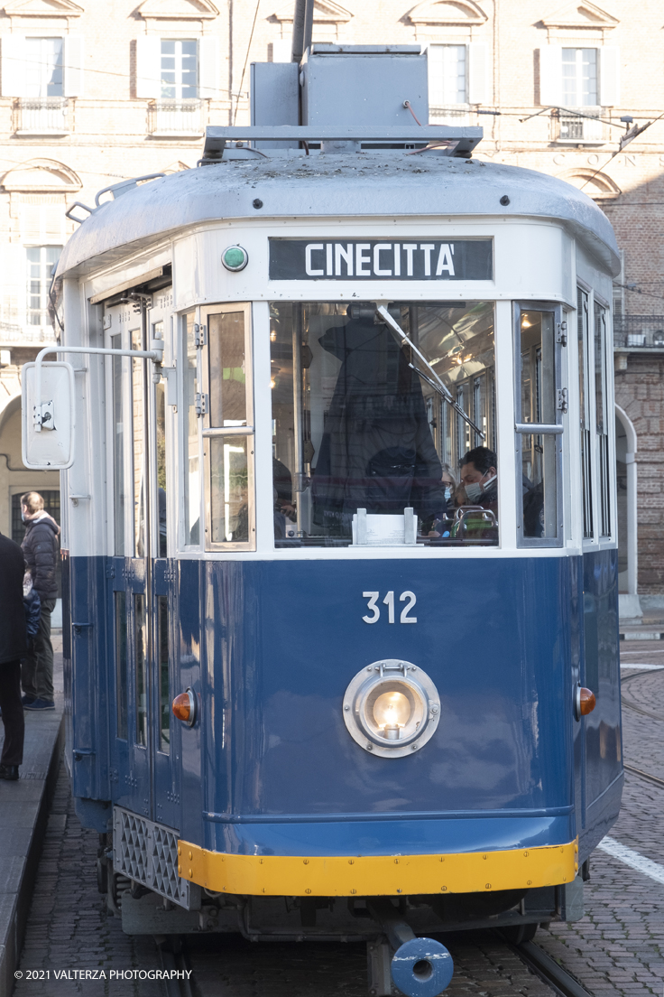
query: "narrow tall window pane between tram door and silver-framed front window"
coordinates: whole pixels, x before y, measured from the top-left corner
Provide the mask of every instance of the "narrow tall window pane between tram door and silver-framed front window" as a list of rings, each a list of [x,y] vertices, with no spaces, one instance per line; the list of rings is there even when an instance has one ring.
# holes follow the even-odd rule
[[[183,384],[183,440],[184,464],[184,544],[197,546],[200,542],[200,476],[198,470],[198,419],[196,397],[199,395],[197,349],[194,330],[194,313],[182,319]]]

